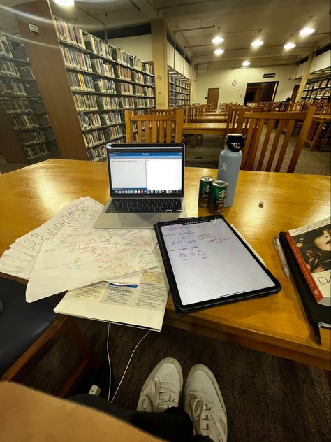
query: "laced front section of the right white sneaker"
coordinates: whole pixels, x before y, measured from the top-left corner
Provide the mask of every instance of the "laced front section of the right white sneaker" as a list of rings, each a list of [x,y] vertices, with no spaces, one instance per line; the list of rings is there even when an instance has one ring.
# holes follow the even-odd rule
[[[212,402],[197,398],[191,404],[191,415],[196,421],[196,434],[209,436],[214,442],[223,442],[213,413]]]

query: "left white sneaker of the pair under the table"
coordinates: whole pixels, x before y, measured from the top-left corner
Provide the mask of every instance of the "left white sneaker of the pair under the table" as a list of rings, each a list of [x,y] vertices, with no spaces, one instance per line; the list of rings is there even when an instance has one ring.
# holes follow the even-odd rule
[[[152,370],[140,392],[138,411],[165,411],[177,407],[183,387],[179,362],[165,357]]]

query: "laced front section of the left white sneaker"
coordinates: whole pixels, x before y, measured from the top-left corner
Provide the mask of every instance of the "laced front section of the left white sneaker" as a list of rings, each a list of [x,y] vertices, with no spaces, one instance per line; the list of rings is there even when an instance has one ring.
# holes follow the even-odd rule
[[[177,406],[177,401],[178,391],[170,385],[162,387],[159,378],[153,380],[152,392],[142,397],[145,410],[150,407],[151,411],[165,411],[167,408]]]

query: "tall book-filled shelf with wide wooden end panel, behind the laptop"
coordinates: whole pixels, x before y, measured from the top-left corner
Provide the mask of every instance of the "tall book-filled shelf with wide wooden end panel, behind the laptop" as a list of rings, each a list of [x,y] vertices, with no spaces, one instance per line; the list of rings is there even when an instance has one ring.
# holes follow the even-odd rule
[[[105,143],[125,141],[124,110],[147,113],[155,106],[152,62],[54,17],[45,1],[13,9],[41,17],[35,20],[36,34],[29,31],[27,15],[15,15],[22,36],[29,39],[28,55],[61,157],[105,158]]]

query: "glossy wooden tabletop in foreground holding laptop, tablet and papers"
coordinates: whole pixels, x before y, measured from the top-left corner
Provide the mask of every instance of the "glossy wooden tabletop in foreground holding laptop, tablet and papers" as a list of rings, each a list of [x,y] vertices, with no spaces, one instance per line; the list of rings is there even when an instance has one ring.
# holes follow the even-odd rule
[[[215,177],[216,170],[185,169],[188,216],[208,214],[198,209],[201,176]],[[105,204],[109,198],[107,164],[50,159],[1,175],[0,188],[2,254],[16,238],[40,226],[75,198],[89,195]],[[263,207],[259,201],[264,201]],[[323,345],[317,345],[293,280],[284,275],[272,241],[279,231],[330,215],[330,177],[240,171],[234,204],[223,214],[263,257],[283,289],[268,297],[180,318],[170,297],[165,323],[330,370],[330,330],[321,329]]]

